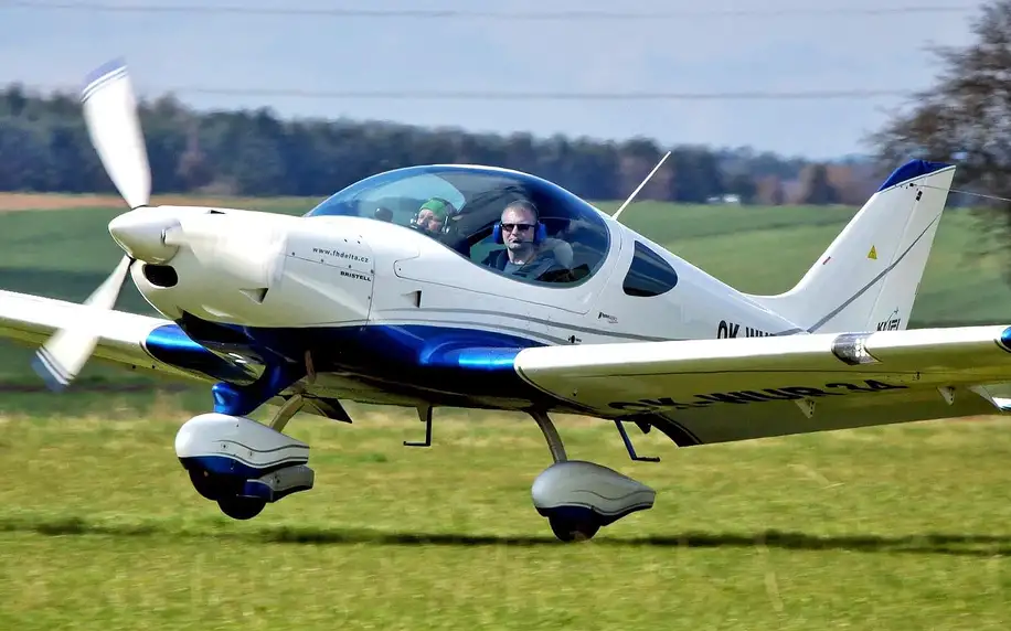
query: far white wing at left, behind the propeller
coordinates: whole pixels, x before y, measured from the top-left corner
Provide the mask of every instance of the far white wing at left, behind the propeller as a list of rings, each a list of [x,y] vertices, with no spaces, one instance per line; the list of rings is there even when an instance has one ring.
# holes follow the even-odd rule
[[[39,347],[56,331],[77,328],[88,328],[98,334],[93,359],[113,362],[123,367],[132,366],[200,378],[199,374],[157,360],[146,350],[152,334],[164,335],[167,328],[178,329],[168,320],[124,311],[93,309],[75,302],[0,290],[2,339]],[[52,373],[43,373],[52,383]]]

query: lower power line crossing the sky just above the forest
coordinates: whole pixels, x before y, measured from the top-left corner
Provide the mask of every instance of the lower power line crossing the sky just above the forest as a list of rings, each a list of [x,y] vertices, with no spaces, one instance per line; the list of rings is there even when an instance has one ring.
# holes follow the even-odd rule
[[[143,87],[138,86],[138,87]],[[45,89],[45,88],[36,88]],[[79,87],[51,87],[50,92],[79,92]],[[141,90],[145,92],[145,90]],[[148,88],[146,92],[155,92]],[[749,90],[749,92],[519,92],[519,90],[311,90],[270,87],[175,86],[160,88],[162,94],[200,94],[216,96],[297,97],[320,99],[408,99],[408,100],[840,100],[873,97],[914,96],[912,89],[837,89],[837,90]]]

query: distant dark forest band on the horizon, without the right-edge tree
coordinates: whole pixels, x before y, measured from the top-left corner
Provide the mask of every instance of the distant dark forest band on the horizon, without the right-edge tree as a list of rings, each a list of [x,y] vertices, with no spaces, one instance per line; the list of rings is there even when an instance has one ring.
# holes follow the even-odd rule
[[[156,193],[322,196],[389,169],[438,162],[518,169],[587,199],[619,200],[668,149],[671,157],[639,199],[859,204],[881,175],[859,163],[809,163],[748,148],[663,147],[647,138],[283,120],[266,108],[201,113],[171,95],[142,101],[139,109]],[[115,192],[88,139],[77,95],[30,93],[17,84],[0,90],[0,191]]]

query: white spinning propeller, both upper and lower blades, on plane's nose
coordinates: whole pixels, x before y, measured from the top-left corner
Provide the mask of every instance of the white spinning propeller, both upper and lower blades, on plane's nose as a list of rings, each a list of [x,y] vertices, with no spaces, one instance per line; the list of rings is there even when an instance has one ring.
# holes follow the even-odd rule
[[[129,217],[136,208],[146,207],[151,193],[147,149],[126,66],[117,61],[97,68],[88,76],[81,101],[92,145],[130,207],[130,212],[109,224],[109,232],[115,237],[117,221],[123,223],[123,218]],[[126,220],[126,223],[131,222]],[[125,255],[85,300],[87,309],[82,310],[81,318],[75,318],[73,328],[56,331],[35,352],[32,366],[50,388],[62,389],[70,385],[91,357],[98,340],[100,319],[116,304],[134,260],[130,254]]]

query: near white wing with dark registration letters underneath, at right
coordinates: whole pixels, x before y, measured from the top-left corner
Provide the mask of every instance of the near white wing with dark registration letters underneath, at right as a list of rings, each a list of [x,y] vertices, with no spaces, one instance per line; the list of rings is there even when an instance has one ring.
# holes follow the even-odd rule
[[[662,415],[683,445],[1011,409],[1011,327],[524,349],[519,374],[588,414]]]

